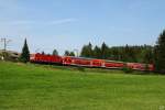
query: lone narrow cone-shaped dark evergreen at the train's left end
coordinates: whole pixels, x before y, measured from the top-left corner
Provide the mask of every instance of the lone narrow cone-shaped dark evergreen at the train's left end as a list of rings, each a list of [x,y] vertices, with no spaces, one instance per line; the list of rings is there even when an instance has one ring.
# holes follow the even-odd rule
[[[28,63],[30,61],[30,51],[29,51],[29,46],[28,46],[28,43],[26,43],[26,38],[24,40],[24,45],[23,45],[23,48],[22,48],[20,61],[23,62],[23,63]]]

